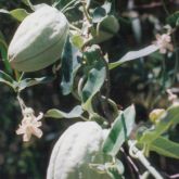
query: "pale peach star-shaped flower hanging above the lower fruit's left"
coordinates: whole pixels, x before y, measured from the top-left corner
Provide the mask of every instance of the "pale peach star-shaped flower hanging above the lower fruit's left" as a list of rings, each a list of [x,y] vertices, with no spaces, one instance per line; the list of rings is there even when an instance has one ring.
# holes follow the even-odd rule
[[[39,113],[39,115],[36,117],[34,110],[26,107],[23,112],[23,116],[24,118],[22,119],[22,124],[16,130],[16,133],[23,135],[23,141],[25,142],[30,140],[31,135],[36,136],[37,138],[41,138],[42,131],[39,129],[41,122],[39,120],[43,117],[43,114]]]

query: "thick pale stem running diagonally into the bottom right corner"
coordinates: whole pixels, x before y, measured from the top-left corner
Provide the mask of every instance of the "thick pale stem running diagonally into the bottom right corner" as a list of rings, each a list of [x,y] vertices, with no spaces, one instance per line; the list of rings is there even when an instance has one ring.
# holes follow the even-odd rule
[[[148,169],[148,171],[155,177],[155,179],[164,179],[161,174],[150,164],[150,162],[146,159],[146,157],[143,155],[143,152],[140,151],[138,148],[136,148],[137,141],[129,140],[129,154],[130,156],[138,158],[143,166]]]

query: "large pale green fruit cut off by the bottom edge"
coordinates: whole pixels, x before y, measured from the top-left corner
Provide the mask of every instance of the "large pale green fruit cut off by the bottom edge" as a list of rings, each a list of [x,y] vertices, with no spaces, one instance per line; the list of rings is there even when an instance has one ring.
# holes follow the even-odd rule
[[[47,179],[111,179],[89,167],[91,163],[105,163],[102,143],[107,133],[95,122],[71,126],[53,148]]]

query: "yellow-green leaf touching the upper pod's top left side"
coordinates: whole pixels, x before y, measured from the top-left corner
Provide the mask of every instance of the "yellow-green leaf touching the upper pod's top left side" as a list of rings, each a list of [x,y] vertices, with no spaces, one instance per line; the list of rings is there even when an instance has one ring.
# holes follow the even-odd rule
[[[0,13],[10,14],[11,16],[13,16],[14,18],[16,18],[20,22],[22,22],[27,15],[29,15],[29,13],[24,9],[15,9],[12,11],[7,11],[3,9],[0,9]]]

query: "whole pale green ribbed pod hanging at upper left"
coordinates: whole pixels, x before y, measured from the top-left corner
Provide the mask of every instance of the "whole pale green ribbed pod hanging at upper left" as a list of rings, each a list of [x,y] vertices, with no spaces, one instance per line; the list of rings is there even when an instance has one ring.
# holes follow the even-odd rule
[[[11,65],[21,72],[42,69],[60,59],[68,22],[55,8],[44,5],[24,18],[9,47]]]

